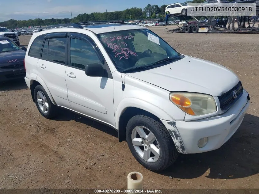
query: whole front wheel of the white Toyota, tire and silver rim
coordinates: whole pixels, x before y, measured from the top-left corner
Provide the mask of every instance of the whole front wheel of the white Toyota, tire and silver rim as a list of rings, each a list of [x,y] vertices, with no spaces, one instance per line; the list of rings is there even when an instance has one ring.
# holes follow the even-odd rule
[[[126,139],[132,155],[149,170],[162,171],[178,157],[166,127],[149,116],[133,116],[126,127]]]

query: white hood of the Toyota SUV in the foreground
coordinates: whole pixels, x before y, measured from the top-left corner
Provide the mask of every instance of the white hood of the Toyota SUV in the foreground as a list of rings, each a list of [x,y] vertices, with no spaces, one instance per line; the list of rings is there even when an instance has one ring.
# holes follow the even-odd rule
[[[128,76],[168,91],[205,93],[220,96],[233,88],[239,78],[228,68],[203,59],[189,57]]]

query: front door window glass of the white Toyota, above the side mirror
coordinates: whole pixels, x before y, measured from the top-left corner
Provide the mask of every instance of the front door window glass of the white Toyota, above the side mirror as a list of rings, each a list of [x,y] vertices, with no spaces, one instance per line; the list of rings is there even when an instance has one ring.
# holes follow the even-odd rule
[[[70,39],[70,65],[85,69],[87,64],[99,63],[102,65],[93,47],[85,40]]]

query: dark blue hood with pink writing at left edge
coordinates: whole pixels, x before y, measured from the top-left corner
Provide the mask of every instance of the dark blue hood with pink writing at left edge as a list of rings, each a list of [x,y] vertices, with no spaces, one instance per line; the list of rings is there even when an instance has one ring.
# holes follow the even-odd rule
[[[0,53],[0,67],[23,63],[25,54],[24,50]]]

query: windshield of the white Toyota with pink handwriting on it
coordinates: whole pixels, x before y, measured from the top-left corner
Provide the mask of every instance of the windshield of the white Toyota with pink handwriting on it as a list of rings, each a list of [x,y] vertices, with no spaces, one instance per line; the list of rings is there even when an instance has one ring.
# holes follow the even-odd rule
[[[181,59],[180,54],[149,29],[98,35],[119,72],[136,72]]]

